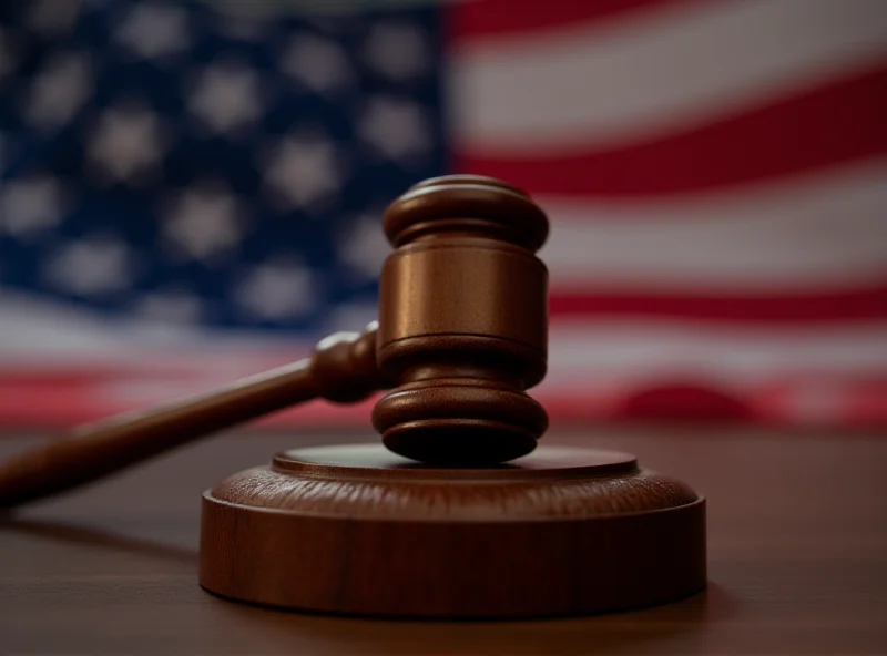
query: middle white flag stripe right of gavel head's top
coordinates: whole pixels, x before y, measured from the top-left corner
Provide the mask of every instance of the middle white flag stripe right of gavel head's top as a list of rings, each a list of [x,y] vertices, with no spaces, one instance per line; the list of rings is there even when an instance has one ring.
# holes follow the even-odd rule
[[[887,160],[655,203],[537,196],[552,288],[822,288],[887,279]]]

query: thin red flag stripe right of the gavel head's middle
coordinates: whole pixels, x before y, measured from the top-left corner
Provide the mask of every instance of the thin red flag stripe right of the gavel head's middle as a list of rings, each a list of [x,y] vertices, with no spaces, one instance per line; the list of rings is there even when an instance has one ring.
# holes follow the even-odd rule
[[[552,290],[552,319],[669,317],[736,324],[820,325],[887,319],[887,283],[865,288],[768,296],[655,295]]]

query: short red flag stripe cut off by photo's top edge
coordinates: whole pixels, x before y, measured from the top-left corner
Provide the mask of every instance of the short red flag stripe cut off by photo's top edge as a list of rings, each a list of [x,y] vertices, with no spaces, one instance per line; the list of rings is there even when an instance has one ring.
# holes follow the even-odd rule
[[[450,35],[460,43],[490,37],[513,37],[540,30],[588,25],[638,10],[660,9],[691,0],[475,0],[448,11]],[[700,0],[695,0],[700,1]]]

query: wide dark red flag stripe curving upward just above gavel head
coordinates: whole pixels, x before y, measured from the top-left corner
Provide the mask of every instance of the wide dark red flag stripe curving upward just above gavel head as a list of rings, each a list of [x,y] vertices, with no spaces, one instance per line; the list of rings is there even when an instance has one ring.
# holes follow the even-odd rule
[[[652,142],[577,155],[459,153],[455,170],[536,194],[659,196],[752,183],[887,153],[887,64]],[[519,145],[519,144],[516,144]]]

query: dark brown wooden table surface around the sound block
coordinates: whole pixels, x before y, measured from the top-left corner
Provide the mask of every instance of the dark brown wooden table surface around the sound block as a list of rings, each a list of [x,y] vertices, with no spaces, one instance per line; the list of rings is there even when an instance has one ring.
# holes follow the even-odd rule
[[[594,428],[708,500],[706,592],[533,622],[328,617],[222,601],[196,581],[201,492],[289,447],[369,434],[218,437],[0,520],[2,654],[887,654],[887,439]],[[34,438],[0,439],[0,458]]]

